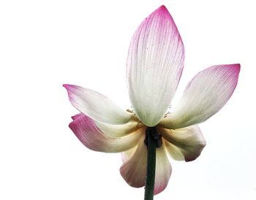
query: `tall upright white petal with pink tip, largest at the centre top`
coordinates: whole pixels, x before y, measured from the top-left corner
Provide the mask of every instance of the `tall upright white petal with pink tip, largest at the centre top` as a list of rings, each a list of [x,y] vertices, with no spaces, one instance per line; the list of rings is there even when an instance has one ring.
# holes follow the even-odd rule
[[[184,66],[184,45],[162,6],[140,24],[127,58],[129,99],[138,118],[155,126],[176,92]]]

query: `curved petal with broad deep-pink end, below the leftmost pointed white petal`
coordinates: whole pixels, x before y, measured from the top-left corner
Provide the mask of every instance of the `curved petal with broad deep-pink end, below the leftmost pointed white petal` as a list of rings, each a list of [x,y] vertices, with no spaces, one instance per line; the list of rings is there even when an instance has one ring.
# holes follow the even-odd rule
[[[124,137],[110,137],[102,133],[97,128],[94,120],[86,115],[75,115],[77,118],[69,123],[69,128],[78,137],[80,142],[91,150],[106,153],[117,153],[129,150],[138,144],[138,140],[144,134],[144,131],[134,131]]]

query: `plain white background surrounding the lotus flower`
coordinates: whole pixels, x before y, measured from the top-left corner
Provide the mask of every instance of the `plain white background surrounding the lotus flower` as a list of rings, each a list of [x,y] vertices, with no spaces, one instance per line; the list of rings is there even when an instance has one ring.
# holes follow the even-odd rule
[[[240,63],[241,74],[230,101],[200,126],[202,155],[171,161],[169,185],[155,199],[256,199],[256,6],[249,0],[0,1],[0,199],[143,199],[143,188],[119,174],[120,154],[93,152],[69,130],[77,111],[61,85],[129,107],[129,40],[162,4],[186,50],[178,96],[207,66]]]

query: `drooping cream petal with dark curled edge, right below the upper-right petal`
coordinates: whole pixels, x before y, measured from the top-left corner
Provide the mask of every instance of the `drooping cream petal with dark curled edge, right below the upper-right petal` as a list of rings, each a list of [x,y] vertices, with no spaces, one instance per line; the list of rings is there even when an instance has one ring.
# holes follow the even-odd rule
[[[158,131],[165,139],[167,152],[178,161],[194,161],[206,146],[206,139],[196,125],[176,130],[159,128]]]

